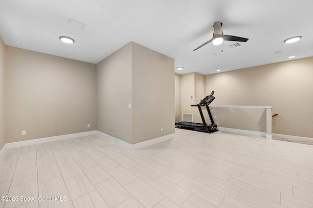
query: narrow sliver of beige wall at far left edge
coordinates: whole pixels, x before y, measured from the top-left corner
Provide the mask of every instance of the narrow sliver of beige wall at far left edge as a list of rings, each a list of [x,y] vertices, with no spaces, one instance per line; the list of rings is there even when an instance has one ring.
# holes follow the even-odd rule
[[[4,60],[5,45],[0,36],[0,150],[5,142],[5,109],[4,109]]]

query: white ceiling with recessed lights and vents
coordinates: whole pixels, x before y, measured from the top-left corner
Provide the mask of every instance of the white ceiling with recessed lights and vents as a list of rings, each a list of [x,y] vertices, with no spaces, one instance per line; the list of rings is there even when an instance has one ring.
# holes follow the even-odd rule
[[[193,52],[212,38],[214,21],[223,22],[225,35],[249,40],[233,49],[229,45],[236,42],[224,41]],[[178,74],[313,57],[312,35],[313,0],[0,0],[6,45],[98,63],[134,41],[175,58]],[[60,36],[75,43],[63,43]],[[303,38],[283,42],[293,36]],[[178,66],[184,69],[177,71]]]

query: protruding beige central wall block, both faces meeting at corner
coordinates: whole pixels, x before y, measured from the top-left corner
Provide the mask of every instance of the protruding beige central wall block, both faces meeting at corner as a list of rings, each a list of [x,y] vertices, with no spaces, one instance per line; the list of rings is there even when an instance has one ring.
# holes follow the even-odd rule
[[[97,130],[130,144],[174,133],[173,69],[173,58],[134,42],[98,63]]]

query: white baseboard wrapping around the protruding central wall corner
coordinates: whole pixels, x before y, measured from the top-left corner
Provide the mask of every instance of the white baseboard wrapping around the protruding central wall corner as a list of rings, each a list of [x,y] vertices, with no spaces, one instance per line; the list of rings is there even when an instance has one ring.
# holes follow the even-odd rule
[[[112,142],[115,142],[116,144],[121,145],[122,147],[124,147],[124,148],[126,148],[128,150],[137,150],[137,149],[144,148],[144,147],[147,147],[149,145],[153,145],[153,144],[156,144],[156,143],[168,140],[168,139],[172,139],[172,138],[175,137],[175,133],[172,133],[172,134],[168,134],[168,135],[165,135],[165,136],[161,136],[161,137],[157,137],[157,138],[154,138],[154,139],[150,139],[150,140],[147,140],[147,141],[139,142],[139,143],[136,143],[136,144],[130,144],[128,142],[125,142],[123,140],[120,140],[118,138],[110,136],[110,135],[108,135],[106,133],[103,133],[103,132],[97,131],[97,134],[109,138]]]

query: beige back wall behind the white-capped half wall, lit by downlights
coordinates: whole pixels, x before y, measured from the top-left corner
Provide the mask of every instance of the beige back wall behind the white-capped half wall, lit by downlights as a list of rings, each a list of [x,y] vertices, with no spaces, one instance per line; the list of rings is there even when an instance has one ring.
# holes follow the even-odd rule
[[[273,133],[313,137],[313,57],[205,76],[212,105],[272,105]],[[238,118],[234,118],[238,119]]]

